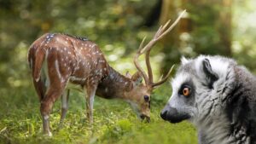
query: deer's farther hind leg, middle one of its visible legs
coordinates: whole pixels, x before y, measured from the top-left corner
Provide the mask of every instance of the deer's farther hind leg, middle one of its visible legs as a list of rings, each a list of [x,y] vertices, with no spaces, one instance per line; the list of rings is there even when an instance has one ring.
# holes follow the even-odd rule
[[[64,94],[61,95],[61,121],[60,121],[61,124],[63,123],[64,118],[66,117],[66,114],[67,114],[69,91],[70,89],[67,89],[65,90]]]

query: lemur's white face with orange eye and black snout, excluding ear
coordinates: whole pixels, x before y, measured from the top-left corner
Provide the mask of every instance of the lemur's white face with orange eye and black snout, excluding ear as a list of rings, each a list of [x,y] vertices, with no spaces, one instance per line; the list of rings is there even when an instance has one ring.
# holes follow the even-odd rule
[[[180,73],[172,81],[172,96],[161,112],[171,123],[193,118],[195,114],[195,84],[189,73]]]

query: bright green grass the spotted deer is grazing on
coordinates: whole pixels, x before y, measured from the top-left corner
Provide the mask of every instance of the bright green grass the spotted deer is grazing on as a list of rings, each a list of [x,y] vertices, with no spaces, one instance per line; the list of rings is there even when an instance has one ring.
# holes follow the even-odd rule
[[[94,124],[90,126],[84,115],[84,95],[73,92],[62,126],[59,125],[61,104],[55,103],[50,115],[53,137],[42,134],[38,97],[32,87],[0,92],[0,143],[197,143],[191,124],[170,124],[159,116],[171,95],[168,84],[152,95],[149,124],[140,122],[125,101],[96,97]]]

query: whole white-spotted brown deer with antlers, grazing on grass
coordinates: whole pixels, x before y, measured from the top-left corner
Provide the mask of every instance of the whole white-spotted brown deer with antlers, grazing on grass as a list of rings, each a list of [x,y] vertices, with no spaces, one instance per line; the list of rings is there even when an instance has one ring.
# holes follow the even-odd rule
[[[182,15],[182,14],[181,14]],[[32,80],[41,102],[40,112],[43,118],[43,130],[49,130],[49,113],[56,99],[61,96],[61,122],[67,113],[69,95],[68,84],[80,85],[86,99],[86,114],[90,124],[93,122],[94,96],[119,98],[128,101],[136,110],[139,118],[150,119],[150,94],[153,89],[166,82],[172,68],[159,82],[153,82],[149,53],[154,44],[177,25],[181,15],[169,26],[160,26],[154,38],[143,47],[140,44],[134,57],[137,72],[132,76],[121,75],[109,66],[96,43],[82,37],[66,34],[46,33],[32,43],[28,51],[28,62],[32,69]],[[168,27],[169,26],[169,27]],[[138,62],[138,57],[145,54],[148,75]],[[145,84],[142,83],[144,79]],[[65,90],[66,89],[66,90]]]

